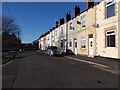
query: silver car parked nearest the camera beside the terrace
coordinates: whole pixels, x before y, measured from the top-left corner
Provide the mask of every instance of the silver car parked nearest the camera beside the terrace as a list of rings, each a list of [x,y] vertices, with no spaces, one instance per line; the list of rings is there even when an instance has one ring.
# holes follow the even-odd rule
[[[62,55],[62,51],[56,46],[48,46],[45,53],[50,56]]]

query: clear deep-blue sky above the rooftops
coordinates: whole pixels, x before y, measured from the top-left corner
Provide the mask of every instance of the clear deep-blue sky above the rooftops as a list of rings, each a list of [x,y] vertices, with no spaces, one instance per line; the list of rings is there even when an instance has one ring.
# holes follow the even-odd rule
[[[2,3],[2,13],[10,16],[5,3]],[[23,43],[30,43],[55,25],[55,20],[65,17],[70,11],[73,17],[73,7],[80,6],[85,10],[85,2],[8,2],[10,13],[21,28]]]

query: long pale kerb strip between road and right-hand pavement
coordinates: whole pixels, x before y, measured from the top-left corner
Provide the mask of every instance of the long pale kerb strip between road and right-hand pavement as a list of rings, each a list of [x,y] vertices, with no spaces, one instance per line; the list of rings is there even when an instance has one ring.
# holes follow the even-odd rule
[[[104,68],[110,68],[109,66],[106,66],[106,65],[103,65],[103,64],[99,64],[99,63],[95,63],[95,62],[91,62],[91,61],[85,61],[85,60],[81,60],[81,59],[77,59],[77,58],[72,58],[72,57],[68,57],[68,56],[65,56],[65,57],[69,58],[69,59],[76,60],[76,61],[80,61],[80,62],[84,62],[84,63],[89,63],[89,64],[96,65],[96,66],[101,66],[101,67],[104,67]]]

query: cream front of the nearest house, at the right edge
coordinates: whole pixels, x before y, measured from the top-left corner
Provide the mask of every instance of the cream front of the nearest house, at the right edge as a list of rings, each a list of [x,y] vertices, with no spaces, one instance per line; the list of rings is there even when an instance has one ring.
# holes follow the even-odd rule
[[[120,2],[118,0],[104,0],[96,5],[97,55],[103,57],[120,58]]]

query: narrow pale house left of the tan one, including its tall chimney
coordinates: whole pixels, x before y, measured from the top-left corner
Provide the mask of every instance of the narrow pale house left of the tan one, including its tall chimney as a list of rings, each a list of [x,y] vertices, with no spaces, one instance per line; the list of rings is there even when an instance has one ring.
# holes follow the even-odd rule
[[[74,17],[68,22],[68,49],[77,55],[77,20],[80,14],[79,6],[74,7]]]

